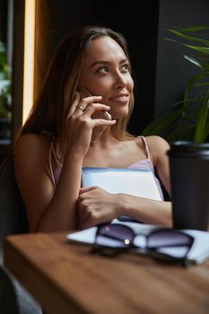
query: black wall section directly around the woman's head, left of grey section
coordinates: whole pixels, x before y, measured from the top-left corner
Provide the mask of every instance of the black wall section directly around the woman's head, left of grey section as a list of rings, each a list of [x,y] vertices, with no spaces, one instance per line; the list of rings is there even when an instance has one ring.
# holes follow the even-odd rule
[[[129,130],[138,135],[154,112],[159,1],[53,0],[52,4],[54,47],[68,31],[88,24],[108,26],[125,35],[135,70],[135,109]]]

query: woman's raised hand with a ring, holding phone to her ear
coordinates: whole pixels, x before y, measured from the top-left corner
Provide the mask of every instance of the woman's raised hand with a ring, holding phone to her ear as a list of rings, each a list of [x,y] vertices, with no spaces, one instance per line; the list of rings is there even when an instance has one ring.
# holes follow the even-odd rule
[[[91,118],[96,111],[106,110],[109,106],[100,104],[101,96],[80,99],[76,92],[74,103],[66,118],[67,150],[84,157],[91,144],[92,130],[95,126],[112,126],[115,120]]]

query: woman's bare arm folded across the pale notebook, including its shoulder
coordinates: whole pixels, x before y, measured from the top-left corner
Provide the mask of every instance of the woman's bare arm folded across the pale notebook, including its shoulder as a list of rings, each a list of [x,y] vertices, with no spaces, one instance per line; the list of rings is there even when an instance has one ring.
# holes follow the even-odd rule
[[[169,144],[159,136],[146,138],[154,167],[170,193]],[[144,223],[171,226],[171,203],[126,194],[110,194],[101,188],[82,188],[78,199],[81,227],[88,228],[109,222],[120,215],[129,215]]]

